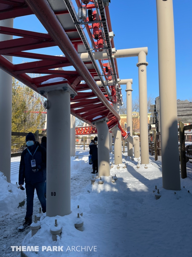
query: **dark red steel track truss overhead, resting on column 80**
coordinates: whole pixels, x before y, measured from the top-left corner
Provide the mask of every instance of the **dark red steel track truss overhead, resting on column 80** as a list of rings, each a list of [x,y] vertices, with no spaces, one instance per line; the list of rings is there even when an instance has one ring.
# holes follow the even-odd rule
[[[55,11],[50,0],[0,0],[0,20],[35,14],[48,31],[47,34],[0,26],[0,33],[20,37],[0,42],[0,68],[36,92],[38,92],[38,87],[48,85],[41,85],[48,79],[56,77],[67,79],[68,84],[78,94],[74,99],[71,99],[71,114],[88,124],[91,124],[95,116],[106,116],[109,119],[108,127],[110,128],[119,122],[120,116],[113,109],[111,103],[113,101],[109,99],[104,87],[99,88],[95,83],[93,77],[98,74],[92,61],[83,62],[79,57],[78,47],[84,43],[77,26],[65,29],[61,25],[61,18],[71,19],[68,7],[66,7],[67,4],[65,5],[67,1],[63,0],[62,2],[65,8]],[[108,7],[105,7],[105,12],[109,31],[111,31]],[[89,26],[88,30],[90,34]],[[65,57],[26,52],[52,46],[58,46]],[[111,47],[114,47],[113,40],[111,40]],[[4,56],[25,57],[37,59],[37,61],[13,64]],[[118,75],[116,59],[114,59],[114,63]],[[58,69],[68,66],[73,66],[76,71]],[[27,73],[42,74],[43,76],[32,78]],[[85,81],[83,84],[81,83],[82,80]],[[92,129],[95,128],[92,127]]]

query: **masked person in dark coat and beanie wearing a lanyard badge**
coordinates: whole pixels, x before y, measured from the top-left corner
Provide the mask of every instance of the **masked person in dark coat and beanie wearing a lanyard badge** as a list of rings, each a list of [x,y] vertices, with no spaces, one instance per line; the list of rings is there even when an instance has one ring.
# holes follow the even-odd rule
[[[46,199],[44,196],[45,174],[46,169],[46,149],[36,142],[33,133],[26,135],[27,148],[21,154],[19,166],[19,187],[22,188],[25,180],[25,189],[27,196],[27,211],[23,226],[18,231],[24,231],[32,223],[33,215],[33,198],[36,189],[38,199],[41,203],[42,212],[46,212]]]

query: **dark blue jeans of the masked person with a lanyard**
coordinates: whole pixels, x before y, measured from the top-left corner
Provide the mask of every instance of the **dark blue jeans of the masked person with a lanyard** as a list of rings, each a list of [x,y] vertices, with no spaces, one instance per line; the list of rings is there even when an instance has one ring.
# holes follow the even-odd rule
[[[33,215],[33,198],[34,198],[34,191],[36,189],[38,199],[41,203],[42,212],[46,212],[46,199],[44,196],[44,185],[45,182],[38,182],[38,183],[25,183],[26,189],[26,196],[27,196],[27,211],[26,211],[26,218],[30,218]]]

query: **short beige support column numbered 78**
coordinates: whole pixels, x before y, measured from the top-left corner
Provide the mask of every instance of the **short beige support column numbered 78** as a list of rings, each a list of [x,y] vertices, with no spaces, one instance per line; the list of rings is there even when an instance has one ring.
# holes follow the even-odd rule
[[[118,165],[122,163],[122,143],[121,143],[121,130],[118,126],[112,129],[114,135],[114,163]]]

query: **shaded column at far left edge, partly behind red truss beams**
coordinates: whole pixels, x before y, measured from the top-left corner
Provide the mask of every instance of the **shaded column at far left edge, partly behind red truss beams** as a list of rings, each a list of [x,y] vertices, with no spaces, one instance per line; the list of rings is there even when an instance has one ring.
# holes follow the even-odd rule
[[[13,19],[0,21],[0,26],[13,28]],[[12,35],[0,34],[0,41],[13,39]],[[13,61],[12,56],[5,56]],[[12,76],[0,69],[0,171],[10,182],[11,167],[11,120]]]

